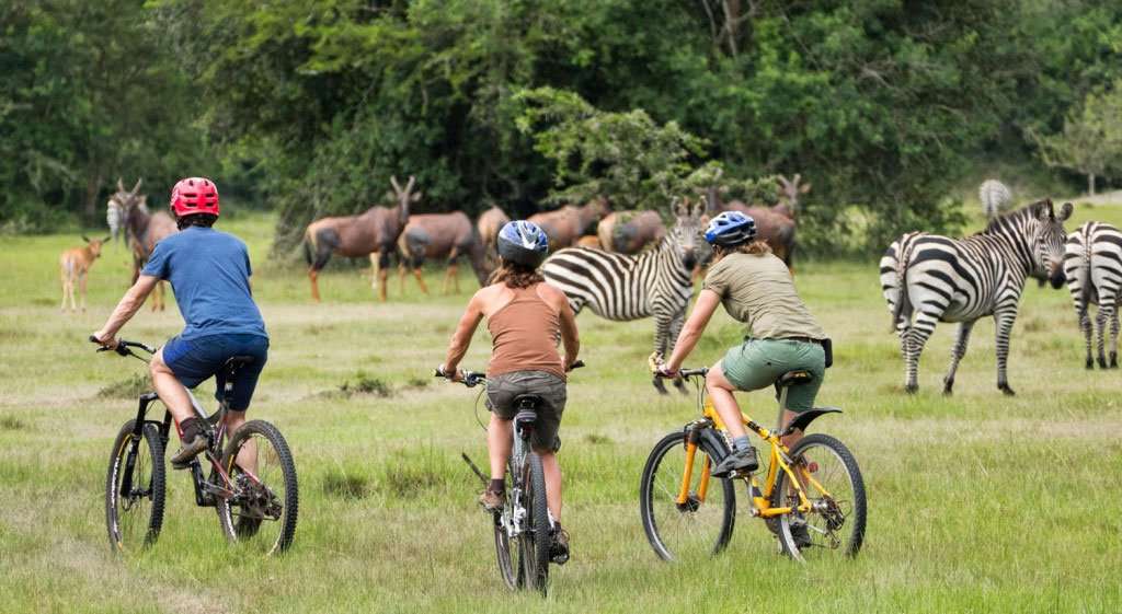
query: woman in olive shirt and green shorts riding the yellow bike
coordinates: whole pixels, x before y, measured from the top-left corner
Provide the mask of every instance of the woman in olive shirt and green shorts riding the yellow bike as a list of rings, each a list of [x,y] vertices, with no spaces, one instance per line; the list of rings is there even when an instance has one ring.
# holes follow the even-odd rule
[[[659,368],[660,375],[678,373],[718,305],[747,325],[747,339],[729,350],[706,376],[706,390],[733,436],[733,453],[712,469],[717,477],[753,472],[760,465],[741,421],[734,391],[758,390],[789,371],[809,371],[813,379],[788,390],[783,408],[783,421],[788,424],[813,407],[826,375],[826,333],[795,292],[783,261],[771,253],[766,243],[753,241],[755,235],[755,222],[739,212],[721,213],[709,223],[706,241],[712,244],[717,260],[706,276],[673,354]],[[793,446],[799,437],[799,431],[787,436],[784,444]]]

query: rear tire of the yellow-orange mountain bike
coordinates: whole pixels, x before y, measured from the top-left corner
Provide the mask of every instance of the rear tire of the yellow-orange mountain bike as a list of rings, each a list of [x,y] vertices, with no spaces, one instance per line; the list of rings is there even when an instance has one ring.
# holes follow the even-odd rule
[[[815,453],[811,455],[811,450],[816,448],[828,454],[819,455]],[[833,550],[839,551],[847,557],[857,556],[861,545],[865,539],[865,515],[867,510],[865,482],[853,453],[838,439],[829,435],[816,432],[799,440],[791,448],[790,457],[795,462],[811,460],[816,465],[815,473],[820,474],[816,475],[816,480],[819,482],[826,482],[831,485],[842,484],[842,489],[845,487],[845,483],[848,483],[848,493],[843,492],[838,487],[827,486],[827,490],[831,492],[830,497],[818,496],[815,492],[817,489],[809,486],[806,493],[807,497],[811,503],[822,503],[824,506],[828,508],[828,511],[811,511],[802,520],[807,524],[807,534],[810,539],[810,546],[815,547],[813,551]],[[821,469],[822,464],[830,464],[830,467],[824,471]],[[840,472],[838,467],[840,467]],[[833,480],[834,473],[844,473],[845,482],[842,483]],[[775,480],[772,505],[798,504],[797,497],[790,495],[784,501],[783,493],[787,491],[789,482],[790,476],[781,471]],[[792,532],[792,521],[794,519],[794,514],[779,517],[778,537],[784,553],[795,560],[804,561],[803,552],[808,548],[806,545],[800,546]]]

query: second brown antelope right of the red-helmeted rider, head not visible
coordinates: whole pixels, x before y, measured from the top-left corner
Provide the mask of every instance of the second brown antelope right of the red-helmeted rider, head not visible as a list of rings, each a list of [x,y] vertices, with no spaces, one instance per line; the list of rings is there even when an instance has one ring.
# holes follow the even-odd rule
[[[413,269],[421,291],[429,294],[421,276],[421,267],[426,258],[442,258],[448,262],[443,286],[445,295],[450,282],[456,287],[457,294],[460,291],[457,262],[461,255],[466,254],[470,259],[480,287],[487,283],[487,277],[490,276],[482,240],[477,230],[471,227],[471,220],[460,211],[410,216],[405,230],[397,239],[397,249],[402,254],[398,267],[402,292],[405,291],[405,269],[408,267]]]

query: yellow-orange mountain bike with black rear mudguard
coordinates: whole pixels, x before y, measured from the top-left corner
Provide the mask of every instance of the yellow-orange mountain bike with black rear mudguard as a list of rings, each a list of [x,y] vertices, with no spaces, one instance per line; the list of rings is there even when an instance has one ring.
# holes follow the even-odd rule
[[[655,444],[640,482],[640,515],[655,553],[672,561],[687,556],[717,555],[733,537],[736,522],[737,482],[746,486],[749,510],[775,534],[780,550],[806,561],[811,552],[856,556],[865,536],[865,484],[857,460],[834,437],[802,437],[791,449],[781,437],[806,428],[837,408],[815,408],[782,426],[788,389],[813,378],[809,371],[783,374],[779,389],[779,420],[766,429],[742,413],[744,425],[771,449],[760,473],[710,476],[710,471],[732,450],[732,440],[705,394],[708,369],[682,369],[692,380],[701,417]]]

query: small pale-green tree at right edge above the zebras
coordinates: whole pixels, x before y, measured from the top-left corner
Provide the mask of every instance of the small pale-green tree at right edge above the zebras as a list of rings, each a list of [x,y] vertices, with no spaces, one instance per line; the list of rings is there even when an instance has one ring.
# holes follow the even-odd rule
[[[1061,132],[1030,133],[1046,165],[1086,175],[1087,193],[1094,196],[1096,178],[1119,168],[1122,159],[1122,81],[1110,92],[1088,94],[1082,109],[1068,113]]]

